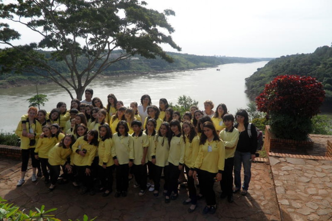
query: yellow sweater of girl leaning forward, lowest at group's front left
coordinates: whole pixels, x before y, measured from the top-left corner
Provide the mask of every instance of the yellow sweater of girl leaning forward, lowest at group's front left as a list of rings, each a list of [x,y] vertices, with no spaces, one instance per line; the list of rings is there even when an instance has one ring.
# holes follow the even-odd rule
[[[56,165],[65,165],[67,157],[70,155],[70,161],[73,161],[74,153],[71,148],[59,147],[59,144],[56,144],[48,152],[48,163],[51,166]]]

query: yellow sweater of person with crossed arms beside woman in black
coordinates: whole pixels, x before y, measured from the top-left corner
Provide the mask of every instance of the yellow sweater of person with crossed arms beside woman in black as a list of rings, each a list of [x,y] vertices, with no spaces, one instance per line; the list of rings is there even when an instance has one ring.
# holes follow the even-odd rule
[[[227,128],[220,131],[219,137],[225,145],[225,159],[234,157],[237,141],[239,141],[239,131],[233,127],[230,131]]]

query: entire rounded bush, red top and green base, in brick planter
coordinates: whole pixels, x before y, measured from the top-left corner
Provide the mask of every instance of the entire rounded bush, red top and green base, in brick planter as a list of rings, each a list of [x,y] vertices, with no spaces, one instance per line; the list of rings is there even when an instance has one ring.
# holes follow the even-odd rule
[[[258,111],[266,112],[277,137],[305,140],[312,132],[310,118],[319,112],[325,91],[315,78],[281,75],[265,85],[256,98]]]

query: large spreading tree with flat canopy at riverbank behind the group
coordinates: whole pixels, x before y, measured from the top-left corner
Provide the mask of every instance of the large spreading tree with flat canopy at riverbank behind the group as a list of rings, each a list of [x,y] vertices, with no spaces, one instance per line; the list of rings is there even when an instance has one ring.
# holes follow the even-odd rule
[[[0,43],[8,46],[0,51],[1,71],[36,73],[54,81],[72,99],[70,89],[77,99],[82,99],[91,81],[115,62],[136,54],[146,58],[160,56],[173,62],[160,44],[181,50],[170,36],[174,29],[167,22],[167,16],[175,13],[160,13],[146,5],[138,0],[1,3],[0,18],[27,27],[42,38],[39,42],[14,45],[12,40],[20,39],[21,34],[8,23],[0,23]],[[46,56],[41,49],[53,51]],[[117,49],[122,50],[113,53]],[[52,61],[63,61],[65,71],[56,69]],[[79,69],[78,62],[84,62],[84,68]]]

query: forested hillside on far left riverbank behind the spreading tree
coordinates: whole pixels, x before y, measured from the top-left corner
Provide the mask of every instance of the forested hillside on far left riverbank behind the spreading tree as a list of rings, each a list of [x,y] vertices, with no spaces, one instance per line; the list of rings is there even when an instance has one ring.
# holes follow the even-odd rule
[[[43,51],[46,57],[50,57],[50,51]],[[112,55],[118,56],[121,51],[115,51]],[[174,58],[174,63],[168,63],[165,60],[157,57],[156,59],[147,59],[142,56],[133,56],[129,59],[116,62],[108,67],[102,74],[106,76],[121,75],[121,74],[139,74],[154,71],[173,71],[173,70],[188,70],[195,68],[204,68],[217,66],[220,64],[227,63],[250,63],[263,60],[271,60],[272,58],[242,58],[242,57],[215,57],[215,56],[199,56],[193,54],[182,54],[167,52]],[[51,61],[56,65],[57,70],[62,73],[69,72],[67,66],[63,61]],[[77,61],[76,66],[79,70],[83,70],[86,67],[87,59],[80,57]],[[93,71],[93,70],[92,70]],[[68,77],[69,74],[68,74]],[[50,80],[41,78],[40,76],[33,73],[22,73],[20,75],[14,73],[6,73],[0,75],[0,86],[10,85],[24,85],[25,81],[29,84],[29,81],[34,83],[47,83]]]

